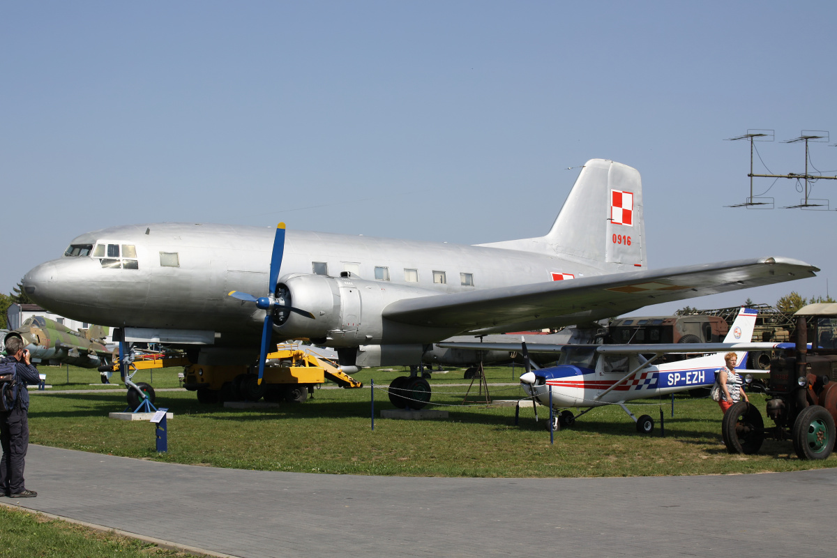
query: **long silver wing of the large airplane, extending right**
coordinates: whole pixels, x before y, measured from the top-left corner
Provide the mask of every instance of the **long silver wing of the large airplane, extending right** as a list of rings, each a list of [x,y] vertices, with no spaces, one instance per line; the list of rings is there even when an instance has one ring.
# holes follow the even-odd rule
[[[535,330],[601,320],[672,300],[814,277],[817,271],[796,259],[745,259],[402,299],[388,305],[383,317],[479,333]]]

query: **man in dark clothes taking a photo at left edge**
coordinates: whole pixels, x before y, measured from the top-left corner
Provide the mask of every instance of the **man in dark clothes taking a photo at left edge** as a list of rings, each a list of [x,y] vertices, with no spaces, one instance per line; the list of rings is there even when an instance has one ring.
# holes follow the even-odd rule
[[[29,446],[29,392],[26,384],[39,381],[38,369],[29,362],[29,351],[19,337],[6,340],[4,363],[13,364],[16,397],[8,411],[0,412],[0,442],[3,460],[0,461],[0,490],[11,498],[32,498],[38,493],[23,485],[23,460]]]

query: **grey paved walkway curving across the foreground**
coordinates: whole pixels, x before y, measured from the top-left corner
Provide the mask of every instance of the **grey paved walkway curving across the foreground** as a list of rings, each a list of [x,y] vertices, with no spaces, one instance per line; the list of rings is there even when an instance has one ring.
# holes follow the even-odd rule
[[[262,556],[834,556],[837,469],[631,479],[418,479],[208,468],[30,446],[74,520]]]

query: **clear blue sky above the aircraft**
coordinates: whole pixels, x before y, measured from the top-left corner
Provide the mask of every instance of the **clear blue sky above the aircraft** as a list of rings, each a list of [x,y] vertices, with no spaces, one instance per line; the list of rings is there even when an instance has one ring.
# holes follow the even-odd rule
[[[804,151],[780,140],[837,143],[835,16],[833,0],[3,3],[0,291],[119,223],[538,236],[567,167],[603,157],[642,174],[652,269],[823,269],[645,313],[825,294],[826,278],[834,295],[837,212],[724,207],[748,195],[749,151],[723,140],[774,129],[759,147],[783,174]],[[837,148],[811,161],[837,174]],[[768,196],[797,203],[794,186]],[[812,195],[837,207],[837,181]]]

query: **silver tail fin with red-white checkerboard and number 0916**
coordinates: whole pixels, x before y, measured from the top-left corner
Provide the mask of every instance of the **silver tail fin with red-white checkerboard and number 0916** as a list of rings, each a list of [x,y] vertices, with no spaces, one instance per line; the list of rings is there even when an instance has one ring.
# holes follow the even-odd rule
[[[648,265],[644,229],[639,171],[591,159],[546,236],[482,245],[548,253],[606,273],[638,271]]]

